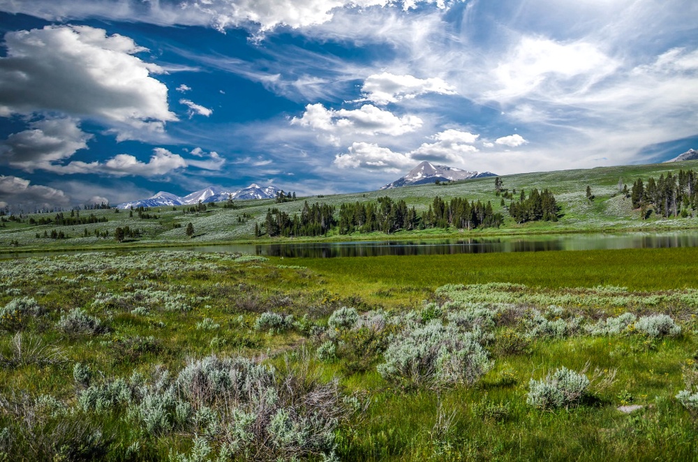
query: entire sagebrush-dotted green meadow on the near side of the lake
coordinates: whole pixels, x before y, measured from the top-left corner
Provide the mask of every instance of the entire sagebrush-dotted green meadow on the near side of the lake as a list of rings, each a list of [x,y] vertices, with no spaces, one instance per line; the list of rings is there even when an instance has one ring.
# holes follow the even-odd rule
[[[692,460],[697,257],[6,260],[0,460]]]

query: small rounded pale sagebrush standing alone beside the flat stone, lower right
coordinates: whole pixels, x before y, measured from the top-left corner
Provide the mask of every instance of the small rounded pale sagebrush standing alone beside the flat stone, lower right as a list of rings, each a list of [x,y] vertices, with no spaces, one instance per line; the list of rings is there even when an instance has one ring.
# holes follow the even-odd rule
[[[544,410],[569,408],[579,403],[589,383],[583,373],[563,367],[548,374],[544,380],[531,379],[526,403]]]

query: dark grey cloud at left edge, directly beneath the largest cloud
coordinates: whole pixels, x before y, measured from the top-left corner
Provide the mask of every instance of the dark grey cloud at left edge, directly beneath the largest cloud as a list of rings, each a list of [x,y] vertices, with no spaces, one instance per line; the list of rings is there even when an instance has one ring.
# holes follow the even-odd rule
[[[34,121],[29,130],[13,133],[0,142],[0,163],[25,172],[45,169],[70,158],[78,149],[87,149],[91,137],[72,117]]]

